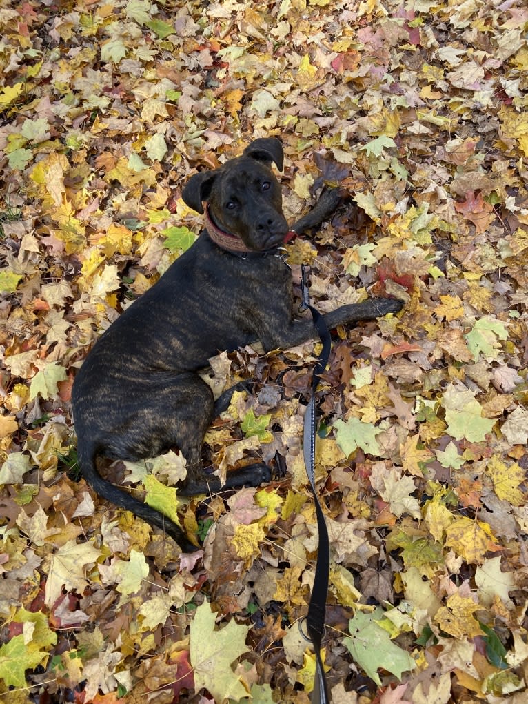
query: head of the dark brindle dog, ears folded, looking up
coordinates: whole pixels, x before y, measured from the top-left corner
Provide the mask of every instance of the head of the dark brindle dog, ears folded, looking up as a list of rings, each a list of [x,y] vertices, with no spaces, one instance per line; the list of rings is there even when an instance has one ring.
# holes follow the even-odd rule
[[[271,249],[281,244],[288,231],[272,162],[282,170],[282,144],[274,137],[256,139],[242,156],[192,176],[182,198],[198,213],[203,213],[203,203],[207,203],[215,225],[239,237],[248,249]]]

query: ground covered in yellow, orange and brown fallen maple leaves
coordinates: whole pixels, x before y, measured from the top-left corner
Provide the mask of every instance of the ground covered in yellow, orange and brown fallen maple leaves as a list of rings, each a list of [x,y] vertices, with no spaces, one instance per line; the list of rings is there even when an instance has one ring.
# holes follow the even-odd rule
[[[405,301],[337,330],[318,391],[334,702],[526,701],[527,26],[515,0],[1,0],[0,700],[308,702],[317,346],[212,360],[216,392],[258,385],[206,457],[277,479],[178,501],[191,558],[79,479],[70,413],[201,228],[188,175],[275,135],[289,218],[349,194],[289,246],[318,308]],[[183,459],[149,465],[115,472],[174,505]]]

